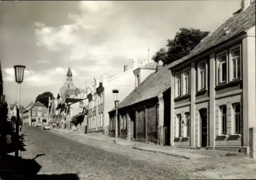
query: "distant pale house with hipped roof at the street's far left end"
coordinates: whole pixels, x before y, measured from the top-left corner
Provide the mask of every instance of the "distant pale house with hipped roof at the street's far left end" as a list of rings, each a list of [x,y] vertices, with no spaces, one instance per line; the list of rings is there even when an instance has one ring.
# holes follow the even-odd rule
[[[37,101],[23,111],[23,123],[28,126],[36,126],[38,123],[45,125],[48,124],[48,115],[48,108]]]

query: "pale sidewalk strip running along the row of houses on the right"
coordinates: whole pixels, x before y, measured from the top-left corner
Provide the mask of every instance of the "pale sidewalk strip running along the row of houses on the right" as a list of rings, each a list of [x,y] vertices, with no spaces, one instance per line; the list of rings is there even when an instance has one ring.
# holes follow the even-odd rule
[[[230,153],[233,154],[234,156],[240,156],[240,157],[244,156],[242,153],[239,154],[237,152],[230,152],[230,151],[176,148],[176,147],[170,147],[170,146],[160,146],[154,143],[127,141],[124,139],[118,139],[117,143],[115,143],[115,138],[103,137],[101,133],[99,134],[93,133],[92,135],[91,134],[89,135],[89,134],[79,134],[78,131],[67,130],[67,129],[52,129],[52,130],[65,132],[65,133],[72,133],[72,134],[76,134],[77,136],[82,136],[84,138],[90,138],[98,141],[109,142],[109,143],[113,143],[121,146],[126,146],[127,148],[133,148],[136,150],[163,153],[166,155],[178,156],[180,158],[185,158],[189,160],[227,157],[227,154],[230,154]]]

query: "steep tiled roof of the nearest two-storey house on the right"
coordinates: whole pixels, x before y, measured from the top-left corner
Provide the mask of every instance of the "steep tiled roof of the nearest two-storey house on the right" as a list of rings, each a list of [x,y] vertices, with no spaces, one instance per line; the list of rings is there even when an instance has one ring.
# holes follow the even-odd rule
[[[190,58],[193,58],[210,48],[214,48],[218,44],[229,40],[230,38],[244,33],[255,26],[255,1],[252,2],[248,8],[244,11],[238,11],[228,18],[219,28],[211,32],[203,38],[198,45],[191,50],[188,55],[181,59],[174,61],[168,65],[169,68],[173,68],[181,62],[184,62]],[[224,28],[230,28],[230,31],[226,34]]]

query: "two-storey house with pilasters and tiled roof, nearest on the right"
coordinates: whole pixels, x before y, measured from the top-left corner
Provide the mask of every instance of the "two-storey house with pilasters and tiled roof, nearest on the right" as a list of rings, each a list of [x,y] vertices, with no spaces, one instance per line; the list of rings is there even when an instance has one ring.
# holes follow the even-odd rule
[[[255,1],[241,1],[185,57],[171,63],[170,144],[247,151],[256,126]]]

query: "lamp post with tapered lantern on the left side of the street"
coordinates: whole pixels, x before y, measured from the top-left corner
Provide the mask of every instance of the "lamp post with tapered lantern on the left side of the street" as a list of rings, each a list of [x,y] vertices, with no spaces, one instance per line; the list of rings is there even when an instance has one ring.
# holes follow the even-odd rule
[[[17,96],[17,114],[16,114],[16,140],[18,142],[18,126],[19,126],[19,106],[20,106],[20,84],[23,82],[24,70],[26,66],[24,65],[14,65],[15,70],[15,81],[18,83],[18,96]],[[16,143],[17,143],[16,142]],[[17,145],[17,144],[16,144]],[[15,156],[18,157],[18,145],[15,149]]]

